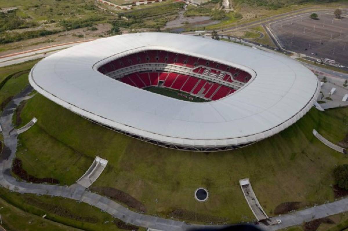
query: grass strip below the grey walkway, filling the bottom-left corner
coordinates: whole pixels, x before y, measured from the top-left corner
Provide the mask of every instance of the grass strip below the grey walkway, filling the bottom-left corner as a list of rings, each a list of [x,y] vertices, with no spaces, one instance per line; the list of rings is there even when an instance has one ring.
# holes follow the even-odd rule
[[[110,214],[76,200],[20,194],[5,188],[0,188],[0,198],[0,205],[4,206],[0,210],[2,220],[11,231],[124,230],[112,222],[114,218]],[[45,219],[41,218],[45,214]]]

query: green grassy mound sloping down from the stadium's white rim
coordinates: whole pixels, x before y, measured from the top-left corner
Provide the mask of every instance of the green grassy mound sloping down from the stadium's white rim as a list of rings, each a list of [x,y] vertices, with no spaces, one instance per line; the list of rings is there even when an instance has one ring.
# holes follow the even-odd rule
[[[166,217],[173,209],[228,217],[229,222],[254,219],[238,185],[250,178],[268,215],[286,201],[309,205],[333,201],[331,171],[348,163],[346,156],[318,141],[317,129],[332,142],[348,132],[348,108],[319,112],[311,109],[285,131],[254,145],[224,152],[185,152],[157,147],[104,129],[37,95],[22,111],[23,124],[38,122],[19,135],[18,157],[38,177],[71,184],[96,155],[109,163],[95,186],[109,186],[141,201],[149,214]],[[27,151],[25,151],[27,149]],[[69,170],[69,171],[68,171]],[[197,187],[209,199],[193,198]]]

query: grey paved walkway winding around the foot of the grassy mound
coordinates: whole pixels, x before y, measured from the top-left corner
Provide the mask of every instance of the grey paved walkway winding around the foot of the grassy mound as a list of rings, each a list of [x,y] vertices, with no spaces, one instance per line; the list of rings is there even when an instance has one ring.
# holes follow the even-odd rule
[[[2,134],[4,139],[4,147],[0,156],[1,186],[11,191],[16,191],[20,193],[52,195],[83,201],[89,205],[93,205],[97,208],[102,209],[103,211],[106,211],[113,217],[116,217],[126,223],[156,230],[184,231],[192,228],[222,227],[222,225],[193,225],[180,221],[139,214],[130,211],[128,208],[106,197],[103,197],[96,193],[85,191],[85,188],[78,184],[73,184],[70,187],[64,187],[59,185],[31,184],[17,181],[13,176],[11,176],[11,164],[16,153],[18,137],[18,133],[12,125],[12,117],[19,103],[25,99],[28,99],[29,97],[27,97],[27,95],[32,90],[33,89],[31,88],[31,86],[28,86],[21,93],[19,93],[4,108],[3,113],[0,117],[0,124],[3,129]],[[289,226],[301,224],[302,222],[307,222],[346,211],[348,211],[348,198],[308,209],[303,209],[295,213],[282,215],[280,217],[280,219],[282,220],[282,224],[273,226],[266,226],[260,224],[259,226],[264,230],[278,230]]]

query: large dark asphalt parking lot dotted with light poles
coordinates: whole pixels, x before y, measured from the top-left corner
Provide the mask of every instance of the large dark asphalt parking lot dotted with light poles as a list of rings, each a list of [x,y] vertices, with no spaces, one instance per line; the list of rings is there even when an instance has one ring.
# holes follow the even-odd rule
[[[318,19],[304,14],[272,23],[270,28],[287,50],[348,66],[348,11],[342,10],[341,19],[333,11],[317,14]]]

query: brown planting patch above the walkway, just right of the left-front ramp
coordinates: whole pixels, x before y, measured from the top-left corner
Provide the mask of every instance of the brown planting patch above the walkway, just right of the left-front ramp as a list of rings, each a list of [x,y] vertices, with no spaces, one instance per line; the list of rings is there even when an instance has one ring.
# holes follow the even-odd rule
[[[137,211],[146,213],[145,205],[143,205],[139,200],[135,199],[134,197],[130,196],[129,194],[121,190],[111,188],[111,187],[102,187],[102,186],[91,187],[90,189],[100,195],[107,196],[113,200],[117,200],[121,203],[124,203],[130,208],[134,208]]]

